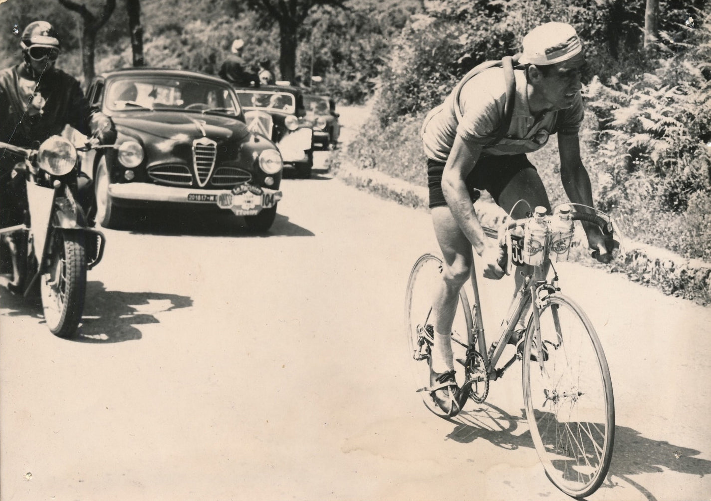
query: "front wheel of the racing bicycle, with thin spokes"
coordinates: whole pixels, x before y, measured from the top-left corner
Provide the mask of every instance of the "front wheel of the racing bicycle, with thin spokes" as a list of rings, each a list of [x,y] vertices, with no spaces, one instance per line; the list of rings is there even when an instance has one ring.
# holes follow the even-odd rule
[[[567,495],[590,495],[607,474],[615,428],[597,334],[577,304],[551,294],[540,308],[540,336],[532,316],[523,353],[526,418],[545,473]]]

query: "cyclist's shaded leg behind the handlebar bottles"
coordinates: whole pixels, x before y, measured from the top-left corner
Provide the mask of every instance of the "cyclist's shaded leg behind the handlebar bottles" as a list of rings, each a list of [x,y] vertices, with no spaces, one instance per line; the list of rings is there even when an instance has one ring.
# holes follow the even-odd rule
[[[525,168],[511,178],[511,181],[501,190],[501,195],[498,197],[498,205],[503,208],[503,210],[506,210],[508,214],[518,200],[526,200],[530,204],[530,210],[533,210],[538,205],[542,205],[550,212],[550,201],[548,200],[545,186],[540,176],[538,176],[538,171],[534,168]],[[518,204],[515,210],[513,210],[513,219],[523,219],[526,217],[528,210],[528,205],[523,203]],[[517,272],[514,275],[514,294],[523,283],[524,276],[530,274],[532,270],[530,266],[523,266],[521,271],[523,271],[523,273]],[[525,318],[525,314],[520,316],[520,325],[515,326],[516,330],[525,328],[525,324],[523,323]]]

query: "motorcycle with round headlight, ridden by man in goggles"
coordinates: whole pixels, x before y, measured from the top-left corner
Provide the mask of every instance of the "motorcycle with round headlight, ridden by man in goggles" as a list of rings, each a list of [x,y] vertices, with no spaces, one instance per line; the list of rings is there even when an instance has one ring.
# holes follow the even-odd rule
[[[104,235],[87,225],[77,203],[77,152],[100,147],[92,141],[75,148],[52,136],[38,149],[0,142],[0,153],[19,160],[0,173],[0,183],[13,182],[20,208],[12,222],[21,220],[0,223],[0,285],[26,298],[39,294],[50,331],[62,338],[76,333],[87,271],[99,264],[105,247]]]

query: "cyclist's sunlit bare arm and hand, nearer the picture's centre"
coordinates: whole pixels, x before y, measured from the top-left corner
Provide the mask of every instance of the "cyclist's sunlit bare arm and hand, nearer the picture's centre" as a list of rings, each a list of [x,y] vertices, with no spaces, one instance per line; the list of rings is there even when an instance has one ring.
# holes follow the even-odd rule
[[[469,191],[466,189],[466,176],[469,176],[479,160],[481,150],[481,145],[464,141],[459,135],[454,138],[454,144],[442,173],[442,193],[457,225],[469,239],[476,253],[484,258],[484,276],[498,279],[503,276],[503,269],[496,264],[501,249],[487,239],[479,217],[474,211]]]

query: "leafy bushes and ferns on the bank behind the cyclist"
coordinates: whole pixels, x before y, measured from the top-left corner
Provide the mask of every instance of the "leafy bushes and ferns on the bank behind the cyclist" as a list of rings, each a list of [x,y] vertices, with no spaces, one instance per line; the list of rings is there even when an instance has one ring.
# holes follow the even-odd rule
[[[661,2],[658,41],[644,48],[643,1],[476,4],[481,8],[433,3],[402,31],[381,75],[373,119],[348,156],[361,167],[427,185],[419,140],[424,114],[469,68],[517,52],[528,29],[570,22],[587,42],[582,156],[597,205],[633,239],[711,261],[711,31],[705,23],[711,6]],[[613,16],[619,8],[625,15]],[[685,24],[690,16],[693,28]],[[533,162],[552,203],[567,200],[555,141],[533,154]]]

